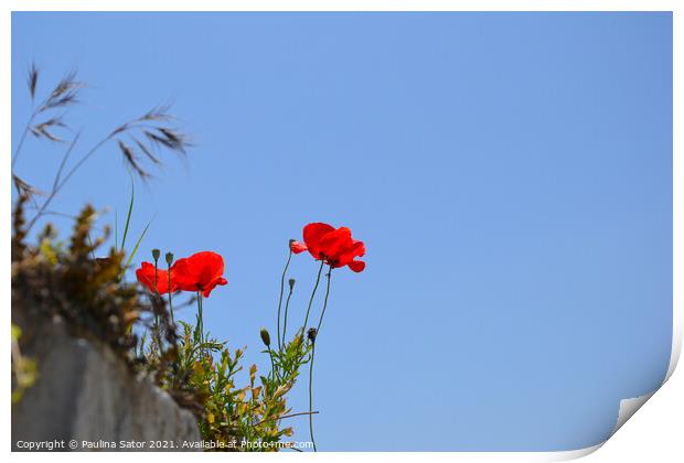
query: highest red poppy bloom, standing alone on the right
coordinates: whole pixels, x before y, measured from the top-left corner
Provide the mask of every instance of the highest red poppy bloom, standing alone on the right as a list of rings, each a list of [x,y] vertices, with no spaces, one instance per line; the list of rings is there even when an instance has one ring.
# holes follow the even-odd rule
[[[304,244],[317,260],[323,259],[332,268],[349,266],[355,272],[363,271],[366,263],[354,260],[365,251],[363,241],[352,238],[346,227],[334,228],[328,224],[314,223],[304,227]]]

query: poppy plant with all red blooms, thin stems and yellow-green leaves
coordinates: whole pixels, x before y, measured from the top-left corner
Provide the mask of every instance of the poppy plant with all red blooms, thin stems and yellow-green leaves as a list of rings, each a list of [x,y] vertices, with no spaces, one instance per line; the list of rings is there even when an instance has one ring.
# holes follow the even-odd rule
[[[302,325],[295,330],[293,336],[288,338],[287,324],[290,315],[290,300],[295,289],[295,279],[288,279],[288,269],[292,255],[309,251],[321,265]],[[167,268],[159,268],[161,251],[152,250],[153,262],[142,262],[136,271],[138,281],[148,289],[153,298],[167,295],[169,308],[172,308],[173,294],[181,291],[194,293],[197,303],[196,324],[181,322],[183,335],[179,340],[178,358],[174,368],[168,370],[162,386],[171,390],[192,390],[200,394],[204,413],[201,416],[200,429],[207,440],[237,441],[242,449],[260,448],[256,444],[278,442],[284,435],[292,434],[291,428],[280,428],[280,420],[293,416],[309,416],[309,431],[314,450],[312,383],[313,358],[316,342],[321,330],[328,300],[332,270],[350,267],[355,272],[365,268],[365,262],[356,260],[365,254],[363,241],[352,238],[346,227],[334,228],[322,223],[312,223],[303,228],[303,243],[291,239],[289,254],[280,279],[280,295],[277,310],[277,342],[271,343],[270,333],[261,329],[260,337],[266,346],[265,354],[270,357],[271,370],[259,376],[257,385],[257,368],[249,368],[249,385],[243,388],[235,387],[235,374],[239,372],[239,359],[244,351],[237,349],[233,355],[224,343],[207,340],[203,323],[203,300],[209,298],[217,286],[227,284],[223,277],[223,258],[216,252],[202,251],[173,262],[173,255],[167,252]],[[321,281],[323,268],[325,272],[325,297],[323,308],[316,327],[309,327],[313,300]],[[285,297],[285,282],[288,281],[289,291]],[[284,309],[285,297],[285,309]],[[171,310],[171,319],[173,312]],[[282,324],[281,324],[282,320]],[[281,330],[282,326],[282,330]],[[304,330],[306,333],[304,333]],[[306,335],[306,338],[304,338]],[[156,323],[149,345],[146,338],[140,346],[140,355],[148,365],[154,365],[159,356],[157,352],[162,347],[160,327]],[[217,359],[216,359],[217,357]],[[309,364],[309,411],[292,413],[287,407],[286,395],[296,384],[300,369]],[[235,445],[232,445],[235,446]]]

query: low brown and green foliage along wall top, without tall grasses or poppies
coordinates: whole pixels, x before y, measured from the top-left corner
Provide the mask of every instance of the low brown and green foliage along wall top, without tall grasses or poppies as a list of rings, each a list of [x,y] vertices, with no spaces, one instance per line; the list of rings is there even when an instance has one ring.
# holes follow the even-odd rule
[[[177,336],[160,295],[142,293],[138,284],[120,281],[122,251],[113,248],[105,258],[92,257],[108,230],[90,243],[96,217],[90,206],[78,215],[66,244],[46,226],[38,245],[28,246],[23,243],[22,205],[19,201],[14,211],[12,292],[17,309],[28,312],[23,316],[49,320],[60,315],[75,335],[109,344],[131,367],[148,372],[179,405],[192,410],[205,440],[235,450],[272,451],[277,448],[245,443],[278,442],[292,435],[292,428],[281,424],[292,411],[287,395],[310,359],[310,343],[301,331],[280,348],[265,349],[271,370],[257,375],[256,365],[252,365],[249,383],[241,387],[236,374],[243,368],[244,348],[231,351],[226,343],[184,322],[179,322],[182,333]],[[157,322],[148,325],[145,313]],[[142,332],[140,340],[136,332]],[[20,397],[35,377],[35,365],[15,355],[12,360],[15,396]]]

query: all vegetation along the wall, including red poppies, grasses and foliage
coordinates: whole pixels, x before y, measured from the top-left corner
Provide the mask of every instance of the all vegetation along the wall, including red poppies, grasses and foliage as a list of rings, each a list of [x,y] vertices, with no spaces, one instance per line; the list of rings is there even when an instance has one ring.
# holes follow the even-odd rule
[[[32,101],[38,82],[39,72],[33,66],[29,73]],[[148,111],[118,126],[67,168],[78,142],[76,136],[68,143],[52,190],[41,200],[40,191],[14,173],[17,159],[28,133],[63,142],[53,130],[64,128],[66,123],[63,116],[52,112],[76,103],[82,87],[74,74],[57,84],[32,111],[12,158],[12,175],[18,192],[12,235],[13,320],[50,320],[58,315],[74,335],[105,342],[131,368],[147,372],[178,403],[191,409],[197,417],[202,437],[222,442],[225,444],[223,449],[278,450],[278,446],[263,444],[282,442],[284,438],[292,435],[293,429],[287,426],[290,421],[286,419],[308,416],[316,450],[312,417],[318,412],[312,406],[313,359],[328,308],[332,271],[342,267],[349,267],[354,272],[363,271],[365,262],[356,258],[365,254],[364,244],[353,239],[349,228],[334,228],[322,223],[307,225],[302,241],[289,241],[288,258],[280,279],[276,340],[271,340],[268,330],[260,332],[265,346],[263,353],[270,360],[270,370],[259,375],[256,365],[252,365],[248,384],[237,385],[236,375],[243,368],[245,349],[232,351],[226,342],[212,337],[203,323],[204,300],[215,288],[227,284],[222,256],[201,251],[174,260],[173,254],[167,252],[163,259],[165,266],[163,262],[160,266],[161,251],[153,249],[152,261],[142,262],[137,269],[137,282],[126,281],[126,271],[149,227],[148,224],[127,256],[125,244],[133,206],[132,190],[120,247],[115,222],[115,244],[106,257],[96,258],[95,251],[107,241],[110,228],[105,227],[101,236],[92,239],[96,212],[90,206],[84,207],[74,217],[74,232],[68,243],[60,241],[52,225],[47,224],[36,234],[34,245],[26,244],[34,224],[52,213],[49,206],[64,183],[108,141],[117,142],[131,172],[143,180],[149,174],[142,168],[141,158],[159,164],[156,149],[184,153],[189,146],[185,136],[164,125],[172,119],[168,108]],[[128,141],[124,140],[124,136],[128,137]],[[30,219],[26,219],[28,211],[34,211]],[[293,323],[290,301],[296,280],[288,278],[288,269],[292,256],[304,251],[319,260],[320,266],[303,323]],[[324,268],[323,305],[318,323],[309,326]],[[175,320],[174,299],[182,293],[190,294],[184,304],[196,303],[194,324]],[[290,326],[295,326],[289,335],[288,321]],[[17,399],[31,386],[36,375],[34,363],[21,355],[19,336],[20,331],[13,326],[12,379],[13,398]],[[309,410],[293,411],[287,403],[288,392],[307,364]]]

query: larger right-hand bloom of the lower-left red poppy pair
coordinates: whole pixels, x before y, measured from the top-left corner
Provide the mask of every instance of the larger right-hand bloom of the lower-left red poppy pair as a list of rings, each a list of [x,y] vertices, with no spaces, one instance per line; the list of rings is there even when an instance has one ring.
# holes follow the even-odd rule
[[[227,284],[223,278],[223,257],[212,251],[193,254],[178,259],[171,268],[171,277],[182,291],[202,291],[207,298],[217,284]]]

